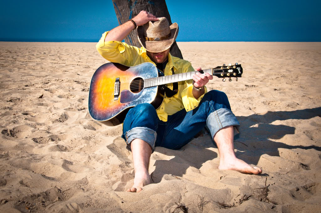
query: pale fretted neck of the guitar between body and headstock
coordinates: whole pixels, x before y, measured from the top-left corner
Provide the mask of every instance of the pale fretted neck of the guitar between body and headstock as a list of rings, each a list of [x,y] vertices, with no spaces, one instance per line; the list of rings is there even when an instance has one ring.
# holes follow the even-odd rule
[[[214,69],[207,69],[207,70],[202,70],[202,71],[193,71],[193,72],[185,72],[185,73],[180,73],[180,74],[174,74],[174,75],[167,75],[167,76],[160,76],[157,78],[149,78],[145,79],[144,81],[144,87],[154,87],[154,86],[159,86],[163,84],[169,84],[169,83],[174,83],[174,82],[179,82],[179,81],[186,81],[193,79],[193,75],[197,72],[200,73],[209,73],[210,75],[213,75]]]

